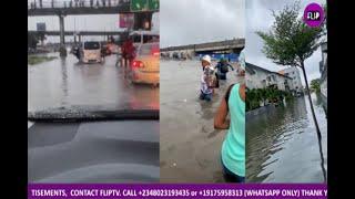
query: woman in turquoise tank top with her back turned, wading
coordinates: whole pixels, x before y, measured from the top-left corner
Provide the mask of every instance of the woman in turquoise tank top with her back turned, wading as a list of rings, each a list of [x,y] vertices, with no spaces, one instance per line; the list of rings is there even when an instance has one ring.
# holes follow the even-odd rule
[[[229,113],[231,114],[231,121],[226,118]],[[234,84],[229,87],[215,115],[214,127],[227,129],[221,150],[225,180],[227,182],[244,182],[245,83]]]

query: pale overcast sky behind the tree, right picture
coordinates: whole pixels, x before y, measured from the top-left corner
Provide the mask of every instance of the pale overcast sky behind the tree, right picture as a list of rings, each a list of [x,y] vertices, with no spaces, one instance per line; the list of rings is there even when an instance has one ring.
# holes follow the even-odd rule
[[[272,17],[272,10],[276,12],[282,10],[284,6],[293,3],[291,0],[247,0],[245,3],[246,12],[246,30],[245,30],[245,61],[253,63],[257,66],[262,66],[270,71],[281,71],[284,66],[274,64],[271,60],[261,52],[263,48],[263,41],[255,31],[267,31],[273,24],[274,18]],[[303,14],[304,8],[311,3],[317,2],[324,4],[326,0],[303,0],[301,2],[301,10]],[[321,49],[314,52],[314,54],[305,61],[306,74],[308,83],[311,80],[321,77],[320,61],[322,60]],[[300,70],[301,72],[301,70]],[[302,72],[301,78],[304,84]]]

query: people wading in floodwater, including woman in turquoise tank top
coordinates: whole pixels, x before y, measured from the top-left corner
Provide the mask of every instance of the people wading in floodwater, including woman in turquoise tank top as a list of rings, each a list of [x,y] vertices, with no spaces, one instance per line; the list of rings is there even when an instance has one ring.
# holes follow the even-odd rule
[[[242,54],[236,67],[236,75],[242,80],[245,78],[243,57]],[[225,59],[213,66],[210,55],[201,59],[201,65],[200,100],[211,102],[219,81],[226,80],[229,67],[234,69]],[[245,81],[230,85],[214,116],[214,127],[227,129],[221,149],[221,165],[227,182],[245,181]]]

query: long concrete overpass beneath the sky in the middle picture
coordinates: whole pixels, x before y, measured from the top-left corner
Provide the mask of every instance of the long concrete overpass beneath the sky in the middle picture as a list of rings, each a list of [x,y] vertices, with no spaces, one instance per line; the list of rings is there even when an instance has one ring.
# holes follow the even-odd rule
[[[161,52],[185,52],[185,53],[214,53],[214,54],[229,54],[240,53],[245,45],[245,39],[233,39],[225,41],[207,42],[200,44],[189,44],[179,46],[162,48]]]

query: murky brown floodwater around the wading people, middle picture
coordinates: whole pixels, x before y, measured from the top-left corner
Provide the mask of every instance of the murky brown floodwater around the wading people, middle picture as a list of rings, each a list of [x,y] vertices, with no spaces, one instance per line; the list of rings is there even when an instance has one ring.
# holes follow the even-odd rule
[[[220,154],[226,130],[215,130],[213,117],[227,86],[236,81],[235,72],[221,81],[207,103],[199,100],[199,61],[161,60],[160,69],[161,182],[223,182]]]

